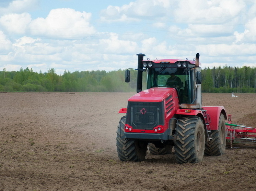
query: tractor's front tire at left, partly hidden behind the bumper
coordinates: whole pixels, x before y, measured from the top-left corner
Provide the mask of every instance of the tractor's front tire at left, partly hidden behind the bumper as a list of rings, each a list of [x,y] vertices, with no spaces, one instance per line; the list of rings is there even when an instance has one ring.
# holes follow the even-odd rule
[[[116,147],[121,161],[143,161],[147,155],[148,143],[124,138],[126,116],[121,118],[116,132]]]

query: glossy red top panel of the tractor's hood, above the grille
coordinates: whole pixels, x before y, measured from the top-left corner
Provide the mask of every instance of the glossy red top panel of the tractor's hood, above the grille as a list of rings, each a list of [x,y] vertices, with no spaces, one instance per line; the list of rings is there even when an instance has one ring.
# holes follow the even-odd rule
[[[172,97],[178,99],[175,88],[154,87],[135,94],[134,96],[130,97],[128,101],[161,102],[171,95]]]

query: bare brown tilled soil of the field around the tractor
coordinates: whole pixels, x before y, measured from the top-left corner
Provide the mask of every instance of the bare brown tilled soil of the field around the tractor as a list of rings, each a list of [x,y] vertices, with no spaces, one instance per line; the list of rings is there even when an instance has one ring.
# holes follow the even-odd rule
[[[134,93],[1,93],[0,191],[247,190],[256,185],[256,149],[226,149],[201,163],[174,154],[120,162],[116,129]],[[203,94],[233,123],[256,125],[256,94]]]

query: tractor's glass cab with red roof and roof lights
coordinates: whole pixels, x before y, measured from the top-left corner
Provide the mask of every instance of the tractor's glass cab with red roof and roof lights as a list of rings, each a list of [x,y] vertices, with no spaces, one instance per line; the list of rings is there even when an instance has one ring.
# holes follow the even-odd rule
[[[147,89],[152,87],[172,87],[178,93],[180,104],[195,103],[197,84],[201,84],[201,72],[199,67],[195,68],[195,60],[148,59],[139,62],[142,63],[142,65],[138,64],[137,83],[139,86],[142,84],[142,78],[140,80],[139,73],[146,71]],[[137,88],[137,92],[140,91]]]

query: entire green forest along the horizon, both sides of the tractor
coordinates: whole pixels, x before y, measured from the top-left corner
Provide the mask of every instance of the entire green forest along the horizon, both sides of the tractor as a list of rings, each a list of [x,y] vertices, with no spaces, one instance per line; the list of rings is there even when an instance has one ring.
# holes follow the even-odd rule
[[[202,92],[256,93],[256,67],[213,67],[202,69]],[[146,72],[142,89],[146,88]],[[125,70],[47,72],[33,69],[0,71],[0,92],[135,92],[137,71],[131,70],[131,81],[125,83]]]

